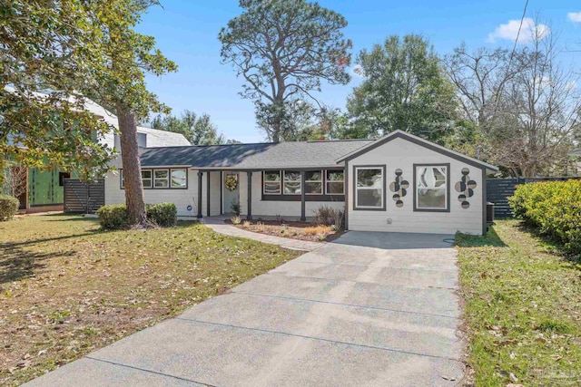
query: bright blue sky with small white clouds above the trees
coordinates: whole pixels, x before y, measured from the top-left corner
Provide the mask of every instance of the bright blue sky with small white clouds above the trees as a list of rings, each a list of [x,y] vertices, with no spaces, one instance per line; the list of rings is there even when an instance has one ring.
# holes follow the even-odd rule
[[[320,5],[348,20],[344,32],[353,41],[354,60],[361,49],[391,34],[423,34],[442,54],[462,41],[468,48],[512,47],[525,0],[320,0]],[[220,63],[218,33],[240,13],[237,0],[162,0],[162,7],[143,16],[138,30],[153,35],[162,52],[179,65],[178,73],[147,78],[149,89],[173,114],[184,109],[206,112],[227,138],[258,142],[264,136],[256,129],[252,102],[238,94],[242,81],[230,65]],[[581,45],[576,44],[581,41],[581,1],[530,0],[527,16],[534,19],[537,14],[560,34],[563,47]],[[532,19],[527,22],[526,27],[533,27]],[[575,55],[581,53],[564,53],[564,59],[572,61]],[[359,82],[353,77],[346,86],[323,84],[320,101],[344,109]]]

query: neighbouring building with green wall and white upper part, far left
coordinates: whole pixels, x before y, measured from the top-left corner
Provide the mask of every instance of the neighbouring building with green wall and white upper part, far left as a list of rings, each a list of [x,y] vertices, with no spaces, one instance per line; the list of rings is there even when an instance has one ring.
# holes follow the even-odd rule
[[[118,128],[117,117],[106,111],[102,106],[92,101],[85,103],[85,109],[93,112],[104,121]],[[137,127],[140,148],[168,147],[190,145],[182,134],[171,131],[158,131],[150,128]],[[113,131],[97,139],[111,150],[121,151],[119,136]],[[22,212],[61,211],[64,205],[64,179],[75,178],[62,169],[43,170],[30,168],[27,170],[27,187],[25,193],[19,196]]]

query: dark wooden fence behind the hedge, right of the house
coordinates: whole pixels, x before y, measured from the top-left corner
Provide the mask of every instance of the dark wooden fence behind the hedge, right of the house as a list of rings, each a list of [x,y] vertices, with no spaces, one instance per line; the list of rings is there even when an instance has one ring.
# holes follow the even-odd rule
[[[512,208],[508,205],[508,197],[514,195],[518,184],[537,181],[565,181],[581,178],[519,178],[519,179],[487,179],[487,200],[494,203],[494,218],[512,218]]]

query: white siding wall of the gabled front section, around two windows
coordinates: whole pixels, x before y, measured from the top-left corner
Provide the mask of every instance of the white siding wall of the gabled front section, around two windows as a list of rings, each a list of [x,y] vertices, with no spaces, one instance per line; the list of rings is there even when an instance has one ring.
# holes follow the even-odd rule
[[[449,172],[449,212],[414,211],[415,187],[413,187],[413,164],[450,164]],[[385,210],[354,210],[353,167],[354,166],[385,166],[386,168],[386,209]],[[462,208],[458,201],[459,193],[454,188],[462,178],[461,169],[469,169],[469,177],[477,182],[474,195],[468,198],[469,208]],[[407,195],[402,198],[403,207],[396,207],[393,200],[395,192],[389,189],[389,183],[394,181],[395,170],[402,170],[402,178],[409,181]],[[430,234],[455,234],[461,231],[468,234],[482,234],[482,169],[464,162],[451,159],[446,155],[428,150],[409,140],[395,139],[379,147],[369,150],[349,160],[349,229],[359,231],[389,231],[416,232]],[[391,220],[389,224],[388,221]]]

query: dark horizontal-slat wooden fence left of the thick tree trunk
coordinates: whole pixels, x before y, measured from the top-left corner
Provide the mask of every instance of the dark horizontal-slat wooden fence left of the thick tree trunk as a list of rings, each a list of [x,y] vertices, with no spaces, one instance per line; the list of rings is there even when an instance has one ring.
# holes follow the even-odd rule
[[[77,179],[64,179],[64,212],[93,214],[105,204],[105,181],[87,184]]]

